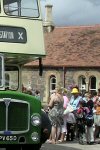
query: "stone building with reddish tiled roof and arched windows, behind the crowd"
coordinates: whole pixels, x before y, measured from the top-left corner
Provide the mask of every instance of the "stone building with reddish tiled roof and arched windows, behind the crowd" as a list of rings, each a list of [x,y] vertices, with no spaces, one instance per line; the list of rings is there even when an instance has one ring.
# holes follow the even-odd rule
[[[46,57],[23,68],[23,84],[39,89],[44,103],[56,85],[69,89],[77,84],[80,91],[100,88],[100,25],[55,27],[44,33]]]

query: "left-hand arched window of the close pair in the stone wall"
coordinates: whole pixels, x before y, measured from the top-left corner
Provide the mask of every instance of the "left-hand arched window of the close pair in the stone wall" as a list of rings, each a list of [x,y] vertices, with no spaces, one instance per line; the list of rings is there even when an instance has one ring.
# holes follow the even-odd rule
[[[85,76],[79,76],[78,78],[78,86],[81,92],[86,91],[86,82],[85,82]]]

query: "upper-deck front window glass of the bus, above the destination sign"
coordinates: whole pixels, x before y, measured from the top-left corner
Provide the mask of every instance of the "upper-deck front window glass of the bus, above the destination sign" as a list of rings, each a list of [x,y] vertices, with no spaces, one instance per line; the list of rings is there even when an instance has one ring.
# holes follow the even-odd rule
[[[39,17],[37,0],[4,0],[4,11],[10,16]]]

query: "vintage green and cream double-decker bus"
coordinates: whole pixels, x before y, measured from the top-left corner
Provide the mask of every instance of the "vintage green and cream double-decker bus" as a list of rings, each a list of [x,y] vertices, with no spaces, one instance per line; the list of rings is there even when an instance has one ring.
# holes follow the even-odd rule
[[[23,65],[38,59],[42,75],[44,56],[40,0],[0,0],[0,147],[38,150],[48,138],[41,102],[22,93]]]

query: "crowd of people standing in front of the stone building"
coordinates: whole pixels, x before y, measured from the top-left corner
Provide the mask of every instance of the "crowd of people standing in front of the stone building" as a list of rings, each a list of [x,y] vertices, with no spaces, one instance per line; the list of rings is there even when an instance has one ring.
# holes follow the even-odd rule
[[[48,103],[48,116],[52,126],[48,143],[78,140],[96,144],[100,138],[100,89],[82,95],[75,86],[68,98],[67,90],[57,87]]]

